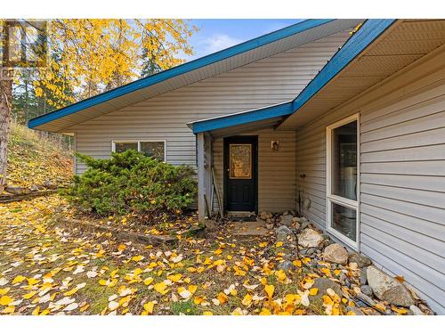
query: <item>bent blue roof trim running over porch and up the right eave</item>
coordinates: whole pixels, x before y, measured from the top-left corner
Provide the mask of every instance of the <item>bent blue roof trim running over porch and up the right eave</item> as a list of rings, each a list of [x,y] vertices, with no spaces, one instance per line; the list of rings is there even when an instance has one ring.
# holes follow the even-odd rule
[[[321,88],[336,77],[352,60],[362,53],[368,45],[376,40],[395,20],[366,20],[360,29],[350,37],[344,46],[339,49],[330,61],[320,70],[303,91],[295,97],[294,101],[277,106],[266,107],[248,111],[237,115],[223,116],[221,118],[206,119],[190,124],[194,134],[211,131],[228,126],[237,126],[258,120],[288,116],[299,110],[304,103],[317,94]]]

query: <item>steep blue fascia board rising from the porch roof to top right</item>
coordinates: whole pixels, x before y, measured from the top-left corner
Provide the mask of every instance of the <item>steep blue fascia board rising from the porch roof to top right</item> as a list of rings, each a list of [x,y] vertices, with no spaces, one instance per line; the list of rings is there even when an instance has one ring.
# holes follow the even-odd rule
[[[300,109],[304,103],[311,100],[321,88],[336,77],[352,60],[365,50],[368,45],[388,29],[395,20],[366,20],[360,29],[350,37],[341,49],[320,70],[319,74],[312,79],[308,86],[295,97],[292,102],[294,112]]]

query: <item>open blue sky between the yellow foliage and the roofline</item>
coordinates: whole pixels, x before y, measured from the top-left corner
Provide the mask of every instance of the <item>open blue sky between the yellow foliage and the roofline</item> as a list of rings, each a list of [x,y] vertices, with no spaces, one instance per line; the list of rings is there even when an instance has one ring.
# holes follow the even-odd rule
[[[209,53],[223,50],[249,39],[262,36],[300,20],[190,20],[199,31],[190,38],[193,55],[185,57],[187,61],[197,59]]]

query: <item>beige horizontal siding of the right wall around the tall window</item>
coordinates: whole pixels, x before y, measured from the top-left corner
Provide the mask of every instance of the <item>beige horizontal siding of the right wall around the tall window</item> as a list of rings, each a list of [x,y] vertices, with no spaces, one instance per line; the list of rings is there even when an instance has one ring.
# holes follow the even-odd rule
[[[297,130],[303,214],[325,227],[326,126],[360,112],[360,251],[445,314],[445,64],[426,57]],[[300,178],[304,173],[306,177]]]

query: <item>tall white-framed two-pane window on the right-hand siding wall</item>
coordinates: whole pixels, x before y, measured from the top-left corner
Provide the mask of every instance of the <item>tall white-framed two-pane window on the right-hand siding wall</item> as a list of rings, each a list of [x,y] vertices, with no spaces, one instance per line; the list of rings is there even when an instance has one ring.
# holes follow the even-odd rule
[[[358,247],[358,114],[327,128],[327,229]]]

